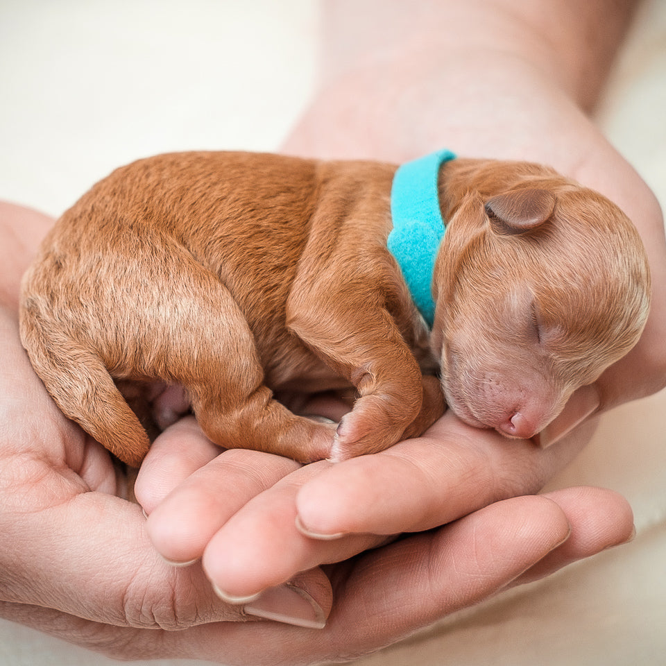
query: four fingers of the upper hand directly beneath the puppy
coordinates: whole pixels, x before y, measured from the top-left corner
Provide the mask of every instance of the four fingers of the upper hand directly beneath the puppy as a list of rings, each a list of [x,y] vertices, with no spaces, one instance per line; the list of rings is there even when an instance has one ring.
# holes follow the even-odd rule
[[[592,428],[541,450],[449,412],[384,452],[299,466],[260,452],[220,454],[194,420],[183,420],[157,438],[135,492],[167,561],[202,558],[223,599],[252,604],[297,572],[538,492]]]

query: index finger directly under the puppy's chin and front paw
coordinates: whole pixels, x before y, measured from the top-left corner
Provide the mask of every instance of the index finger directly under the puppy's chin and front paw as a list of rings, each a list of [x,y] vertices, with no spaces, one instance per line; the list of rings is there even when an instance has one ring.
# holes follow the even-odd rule
[[[311,479],[296,499],[299,524],[314,538],[431,529],[497,499],[538,492],[579,452],[593,427],[587,422],[542,450],[468,427],[447,412],[420,438]]]

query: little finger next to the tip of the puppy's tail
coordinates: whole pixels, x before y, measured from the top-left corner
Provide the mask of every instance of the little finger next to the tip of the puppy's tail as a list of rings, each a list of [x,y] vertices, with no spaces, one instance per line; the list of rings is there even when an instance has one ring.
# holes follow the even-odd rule
[[[182,418],[164,430],[144,459],[135,497],[146,515],[193,472],[218,456],[221,449],[208,439],[193,416]]]

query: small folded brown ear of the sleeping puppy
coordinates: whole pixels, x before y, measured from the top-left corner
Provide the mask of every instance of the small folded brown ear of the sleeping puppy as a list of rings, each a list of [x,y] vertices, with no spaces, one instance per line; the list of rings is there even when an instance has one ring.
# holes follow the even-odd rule
[[[518,189],[486,203],[490,227],[497,234],[522,234],[550,219],[556,196],[548,189]]]

